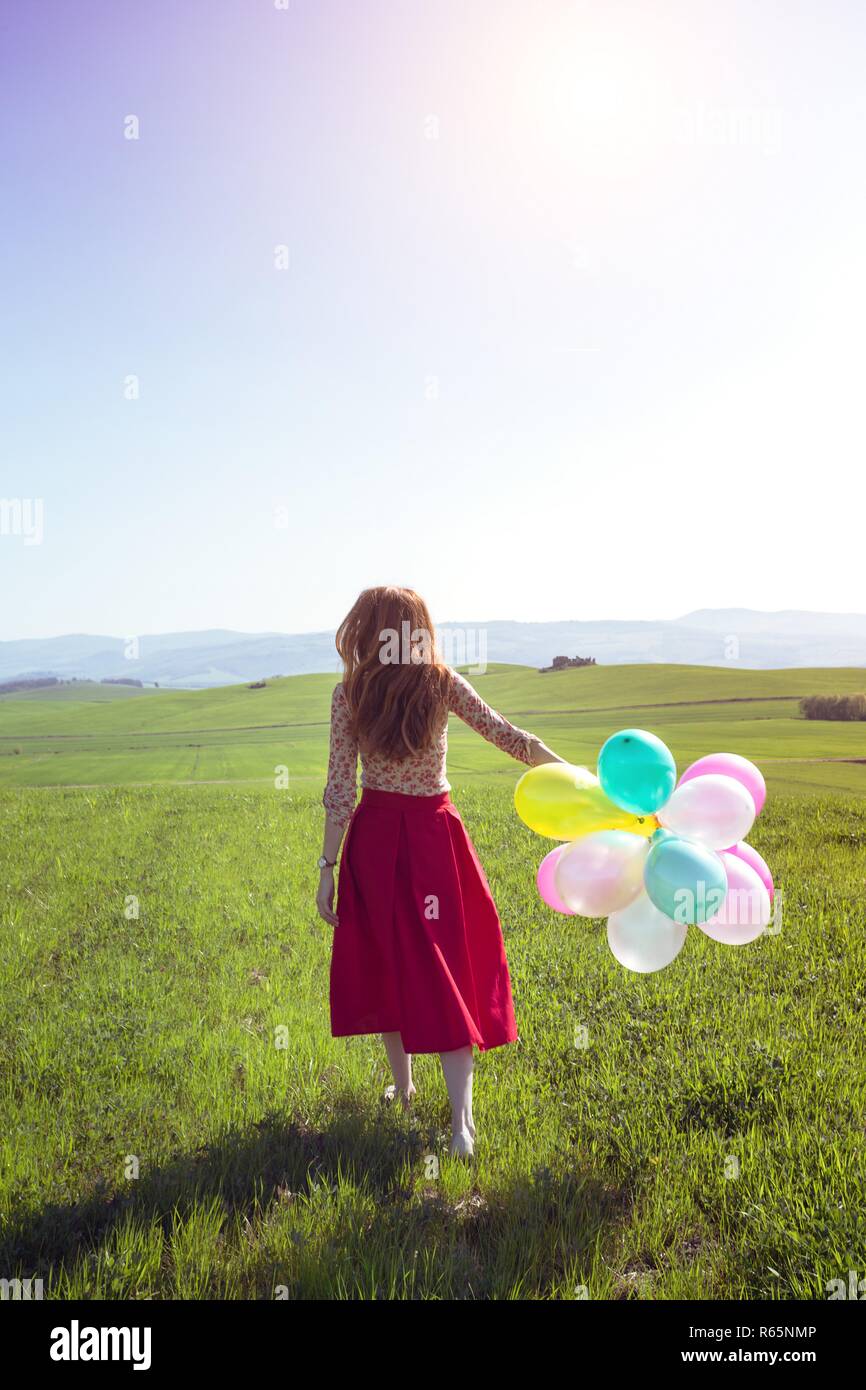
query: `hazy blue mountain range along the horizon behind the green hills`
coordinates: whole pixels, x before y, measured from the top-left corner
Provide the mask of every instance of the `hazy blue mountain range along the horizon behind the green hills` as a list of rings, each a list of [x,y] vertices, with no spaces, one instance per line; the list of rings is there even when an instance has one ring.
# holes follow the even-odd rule
[[[759,613],[701,609],[670,621],[445,623],[445,655],[455,664],[516,662],[549,666],[555,656],[595,656],[599,664],[674,662],[740,666],[865,666],[866,614]],[[336,671],[334,632],[163,632],[138,639],[74,634],[0,642],[0,681],[36,676],[88,680],[132,677],[199,689]],[[866,684],[866,680],[865,680]]]

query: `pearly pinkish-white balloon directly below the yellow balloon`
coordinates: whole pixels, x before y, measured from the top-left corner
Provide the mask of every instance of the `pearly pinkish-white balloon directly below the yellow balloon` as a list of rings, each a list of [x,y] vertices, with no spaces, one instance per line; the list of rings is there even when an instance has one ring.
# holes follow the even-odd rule
[[[606,917],[644,891],[649,840],[630,830],[595,830],[567,845],[556,865],[556,891],[581,917]]]

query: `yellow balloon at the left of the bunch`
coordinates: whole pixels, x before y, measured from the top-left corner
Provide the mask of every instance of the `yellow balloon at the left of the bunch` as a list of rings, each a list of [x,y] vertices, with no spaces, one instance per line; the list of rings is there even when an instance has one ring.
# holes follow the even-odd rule
[[[655,816],[632,816],[614,805],[594,773],[571,763],[530,767],[514,788],[514,806],[530,830],[549,840],[577,840],[594,830],[649,837],[659,828]]]

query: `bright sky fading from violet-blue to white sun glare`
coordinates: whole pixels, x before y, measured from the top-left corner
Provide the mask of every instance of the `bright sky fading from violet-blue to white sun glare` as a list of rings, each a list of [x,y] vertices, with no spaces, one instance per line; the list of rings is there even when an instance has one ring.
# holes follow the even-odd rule
[[[866,607],[862,4],[0,17],[0,639]]]

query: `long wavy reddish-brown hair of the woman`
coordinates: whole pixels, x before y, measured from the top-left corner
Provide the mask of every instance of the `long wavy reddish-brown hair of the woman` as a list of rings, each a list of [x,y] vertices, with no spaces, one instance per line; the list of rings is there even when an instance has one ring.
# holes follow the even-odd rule
[[[364,589],[336,631],[343,685],[363,752],[402,759],[430,748],[448,709],[427,603],[414,589]]]

